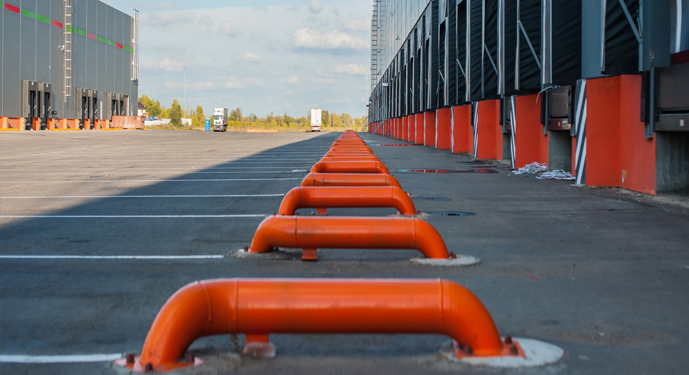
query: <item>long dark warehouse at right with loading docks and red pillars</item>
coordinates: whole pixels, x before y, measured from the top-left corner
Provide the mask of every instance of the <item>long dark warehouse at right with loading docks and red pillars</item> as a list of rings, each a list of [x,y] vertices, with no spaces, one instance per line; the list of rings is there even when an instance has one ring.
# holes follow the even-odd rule
[[[689,0],[374,0],[369,131],[689,192]]]

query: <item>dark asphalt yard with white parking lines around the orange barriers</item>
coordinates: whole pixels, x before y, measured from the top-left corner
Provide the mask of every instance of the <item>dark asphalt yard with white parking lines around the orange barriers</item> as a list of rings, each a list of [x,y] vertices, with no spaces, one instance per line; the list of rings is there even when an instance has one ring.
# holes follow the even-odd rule
[[[414,250],[234,257],[340,135],[0,133],[0,372],[116,374],[99,355],[140,352],[163,303],[196,280],[440,277],[474,292],[501,334],[566,356],[489,369],[444,358],[440,335],[274,334],[277,356],[254,359],[238,356],[242,336],[213,336],[192,349],[220,358],[214,367],[181,372],[687,373],[689,213],[661,198],[537,180],[502,162],[360,133],[449,250],[480,264],[415,264]],[[421,169],[451,173],[409,171]]]

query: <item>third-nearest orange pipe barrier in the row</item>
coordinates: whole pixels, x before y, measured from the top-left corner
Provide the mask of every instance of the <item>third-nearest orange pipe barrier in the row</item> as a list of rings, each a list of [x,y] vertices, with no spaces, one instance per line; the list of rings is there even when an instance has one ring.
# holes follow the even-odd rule
[[[278,215],[294,215],[305,207],[394,207],[402,215],[416,214],[409,195],[396,186],[298,186],[282,199]]]

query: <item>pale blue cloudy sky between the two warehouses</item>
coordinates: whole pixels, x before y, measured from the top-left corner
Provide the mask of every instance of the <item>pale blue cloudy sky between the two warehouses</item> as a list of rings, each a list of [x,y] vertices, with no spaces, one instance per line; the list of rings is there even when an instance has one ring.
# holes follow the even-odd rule
[[[366,114],[370,0],[105,2],[141,12],[139,95],[165,107]]]

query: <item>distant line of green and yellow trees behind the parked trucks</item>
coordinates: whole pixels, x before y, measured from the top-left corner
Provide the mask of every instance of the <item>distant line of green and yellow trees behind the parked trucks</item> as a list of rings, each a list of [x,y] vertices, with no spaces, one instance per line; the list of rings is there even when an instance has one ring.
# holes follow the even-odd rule
[[[146,95],[142,95],[138,100],[141,104],[146,107],[146,111],[151,117],[158,118],[169,118],[170,127],[173,129],[182,129],[182,118],[192,119],[192,129],[204,129],[205,128],[205,114],[203,113],[203,107],[200,105],[196,106],[196,110],[185,109],[183,110],[177,99],[172,100],[172,105],[169,109],[166,109],[161,105],[159,100],[153,100]],[[209,117],[212,115],[209,115]],[[311,128],[311,110],[307,111],[306,116],[295,118],[289,116],[287,111],[284,111],[282,115],[276,115],[274,112],[266,114],[264,117],[258,117],[256,114],[249,114],[249,116],[243,116],[243,111],[241,108],[232,109],[229,111],[227,125],[229,129],[244,129],[244,128],[266,128],[266,129],[278,129],[286,131],[300,131],[308,130]],[[321,113],[321,122],[324,130],[339,130],[339,129],[355,129],[360,130],[366,125],[368,121],[367,116],[361,116],[358,118],[353,118],[350,114],[342,113],[337,114],[336,112],[330,112],[323,110]]]

